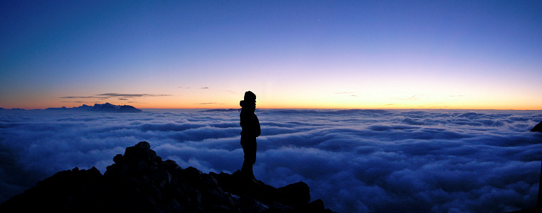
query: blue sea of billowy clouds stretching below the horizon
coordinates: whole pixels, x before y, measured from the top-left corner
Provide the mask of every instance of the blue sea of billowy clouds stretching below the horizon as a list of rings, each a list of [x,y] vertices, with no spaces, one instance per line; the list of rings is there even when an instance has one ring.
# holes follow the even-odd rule
[[[536,206],[542,111],[257,109],[255,177],[303,181],[336,212],[506,212]],[[239,112],[0,111],[0,202],[60,170],[102,173],[148,141],[182,168],[243,164]]]

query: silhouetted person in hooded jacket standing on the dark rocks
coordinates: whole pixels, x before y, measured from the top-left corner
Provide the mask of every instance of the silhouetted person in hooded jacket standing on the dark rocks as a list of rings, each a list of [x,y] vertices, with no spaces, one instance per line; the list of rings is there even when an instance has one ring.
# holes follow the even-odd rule
[[[241,146],[243,146],[243,153],[245,153],[245,160],[243,161],[243,168],[241,173],[246,178],[254,178],[253,165],[256,163],[256,137],[260,136],[260,121],[258,121],[254,111],[256,109],[256,95],[253,92],[245,92],[245,99],[240,101],[241,113],[240,124],[243,131],[241,131]]]

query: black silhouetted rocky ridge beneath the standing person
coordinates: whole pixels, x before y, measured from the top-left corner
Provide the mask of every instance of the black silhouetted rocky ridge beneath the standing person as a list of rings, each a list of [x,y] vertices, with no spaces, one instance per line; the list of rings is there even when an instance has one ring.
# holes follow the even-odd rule
[[[65,170],[0,205],[0,212],[331,212],[309,186],[275,188],[239,172],[201,173],[162,160],[142,141],[116,155],[102,175]]]

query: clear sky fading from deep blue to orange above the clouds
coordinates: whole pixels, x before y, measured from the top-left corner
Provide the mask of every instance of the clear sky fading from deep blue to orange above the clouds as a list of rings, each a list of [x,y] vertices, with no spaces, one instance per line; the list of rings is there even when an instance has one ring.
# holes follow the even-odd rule
[[[0,107],[542,109],[542,1],[0,1]]]

